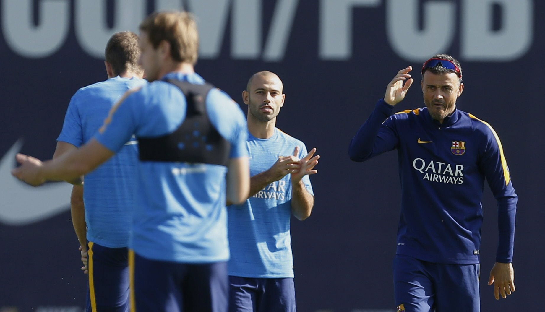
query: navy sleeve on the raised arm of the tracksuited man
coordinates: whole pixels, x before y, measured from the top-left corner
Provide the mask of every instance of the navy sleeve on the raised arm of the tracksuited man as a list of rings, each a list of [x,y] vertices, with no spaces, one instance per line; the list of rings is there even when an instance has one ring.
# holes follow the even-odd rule
[[[380,99],[371,116],[360,127],[348,148],[350,159],[366,161],[397,147],[399,138],[392,115],[393,106]]]

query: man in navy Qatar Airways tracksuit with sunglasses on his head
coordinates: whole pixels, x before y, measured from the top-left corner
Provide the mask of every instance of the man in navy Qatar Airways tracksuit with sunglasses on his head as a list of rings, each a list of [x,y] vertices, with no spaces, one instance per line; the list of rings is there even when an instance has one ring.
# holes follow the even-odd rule
[[[439,54],[422,66],[425,108],[392,115],[414,82],[402,69],[350,143],[353,161],[397,149],[402,207],[393,264],[397,311],[480,311],[479,249],[483,184],[498,201],[499,244],[488,284],[514,291],[517,194],[498,134],[456,108],[459,62]],[[403,82],[405,84],[403,85]]]

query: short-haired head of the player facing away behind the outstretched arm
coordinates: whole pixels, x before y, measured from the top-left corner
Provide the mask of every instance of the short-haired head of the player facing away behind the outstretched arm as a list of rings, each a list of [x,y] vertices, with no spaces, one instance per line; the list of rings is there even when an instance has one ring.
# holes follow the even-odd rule
[[[126,71],[140,72],[138,66],[140,48],[138,47],[138,35],[133,32],[119,32],[111,36],[104,51],[106,62],[112,65],[115,75]]]

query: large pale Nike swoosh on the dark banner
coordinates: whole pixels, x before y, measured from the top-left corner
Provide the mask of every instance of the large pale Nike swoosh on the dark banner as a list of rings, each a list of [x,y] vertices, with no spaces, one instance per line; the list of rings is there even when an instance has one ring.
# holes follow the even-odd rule
[[[16,166],[15,155],[22,146],[23,141],[17,140],[0,160],[0,222],[7,225],[38,222],[70,208],[69,183],[32,187],[11,175]]]

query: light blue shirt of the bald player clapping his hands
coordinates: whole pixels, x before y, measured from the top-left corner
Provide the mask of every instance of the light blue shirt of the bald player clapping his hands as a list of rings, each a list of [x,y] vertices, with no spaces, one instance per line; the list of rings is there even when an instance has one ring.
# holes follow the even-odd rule
[[[268,139],[249,134],[250,175],[268,170],[278,156],[293,155],[299,146],[299,158],[307,155],[300,140],[279,129]],[[314,195],[308,175],[302,181]],[[227,207],[230,276],[250,278],[293,278],[293,255],[289,232],[292,215],[291,175],[270,183],[241,205]]]

